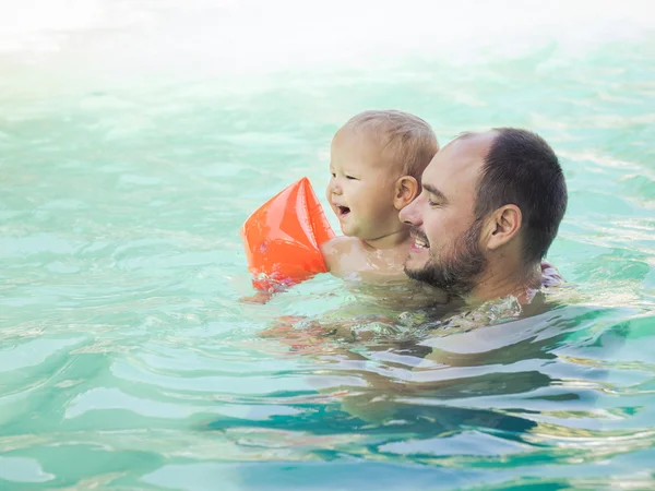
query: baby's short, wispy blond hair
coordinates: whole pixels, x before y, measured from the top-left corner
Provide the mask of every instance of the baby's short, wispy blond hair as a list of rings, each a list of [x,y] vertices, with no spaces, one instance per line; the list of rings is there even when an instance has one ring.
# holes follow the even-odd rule
[[[420,184],[424,170],[439,151],[430,125],[417,116],[397,110],[368,110],[350,118],[340,130],[364,131],[377,140],[382,155],[397,166],[401,176]]]

